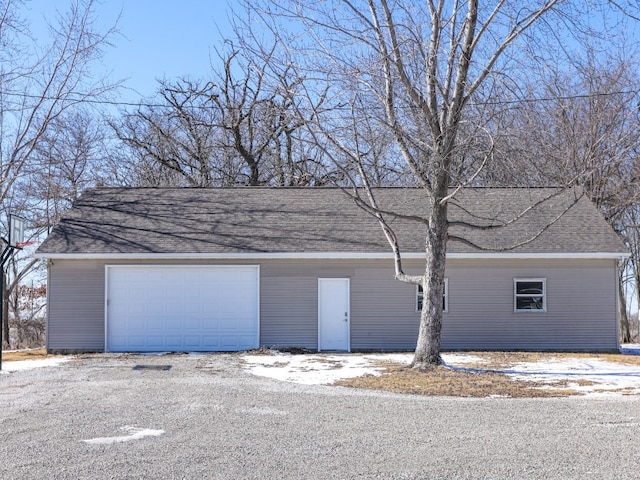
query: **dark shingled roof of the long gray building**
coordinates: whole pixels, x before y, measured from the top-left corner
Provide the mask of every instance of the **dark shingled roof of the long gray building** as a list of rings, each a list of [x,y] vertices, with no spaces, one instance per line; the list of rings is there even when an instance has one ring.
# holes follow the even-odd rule
[[[421,189],[375,193],[383,209],[406,215],[428,209]],[[450,235],[471,242],[450,240],[454,253],[627,251],[580,189],[463,189],[449,218],[484,227],[507,223],[481,229],[452,224]],[[424,223],[396,218],[391,225],[403,252],[424,251]],[[337,188],[97,188],[78,199],[37,254],[390,251],[375,218]]]

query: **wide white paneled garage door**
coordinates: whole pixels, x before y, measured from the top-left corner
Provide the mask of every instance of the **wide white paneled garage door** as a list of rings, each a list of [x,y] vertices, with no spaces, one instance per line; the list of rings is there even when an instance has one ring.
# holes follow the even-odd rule
[[[255,348],[259,277],[257,266],[109,266],[106,350]]]

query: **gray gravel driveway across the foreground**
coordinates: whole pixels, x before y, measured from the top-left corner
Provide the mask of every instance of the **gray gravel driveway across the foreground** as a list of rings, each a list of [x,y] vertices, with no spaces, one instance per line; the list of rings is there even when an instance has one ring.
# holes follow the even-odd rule
[[[240,364],[105,354],[0,375],[0,478],[638,473],[638,397],[415,397],[278,382]]]

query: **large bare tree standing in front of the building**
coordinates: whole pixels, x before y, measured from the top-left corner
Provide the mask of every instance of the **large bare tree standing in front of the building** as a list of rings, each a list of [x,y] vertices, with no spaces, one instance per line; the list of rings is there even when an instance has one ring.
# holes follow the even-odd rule
[[[286,46],[283,65],[293,59],[300,76],[314,78],[315,85],[307,85],[309,103],[316,96],[314,87],[328,84],[330,101],[345,113],[341,122],[318,115],[313,135],[354,185],[365,188],[364,196],[357,190],[353,195],[384,230],[395,257],[395,277],[421,285],[425,292],[414,368],[441,362],[447,242],[466,241],[450,231],[455,225],[448,218],[448,206],[459,189],[474,184],[495,153],[493,112],[484,108],[484,101],[509,92],[522,75],[518,69],[529,53],[523,45],[555,40],[563,30],[554,22],[566,26],[580,18],[573,11],[580,5],[560,0],[526,4],[478,0],[245,2],[251,20],[263,21]],[[576,35],[578,32],[576,28]],[[252,48],[261,53],[258,42]],[[335,111],[331,110],[334,117]],[[371,150],[360,128],[363,114],[374,115],[385,134],[393,138],[390,153],[403,159],[409,173],[403,183],[422,188],[428,199],[424,211],[404,217],[425,228],[423,275],[405,274],[391,223],[402,215],[379,205],[369,188],[362,159]]]

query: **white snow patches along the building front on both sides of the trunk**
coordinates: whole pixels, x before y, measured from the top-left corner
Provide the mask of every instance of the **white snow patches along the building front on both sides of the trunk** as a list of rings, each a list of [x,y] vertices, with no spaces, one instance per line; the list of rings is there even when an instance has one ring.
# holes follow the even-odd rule
[[[627,348],[628,347],[628,348]],[[640,352],[640,345],[625,346],[625,353]],[[243,356],[245,367],[254,375],[306,385],[329,385],[338,380],[363,375],[380,375],[384,362],[408,365],[410,353],[394,354],[309,354]],[[463,353],[443,353],[446,365],[465,369],[482,358]],[[477,369],[472,369],[477,371]],[[568,387],[585,395],[640,395],[640,366],[623,365],[596,358],[550,355],[547,360],[518,363],[503,370],[517,380],[568,382]]]

